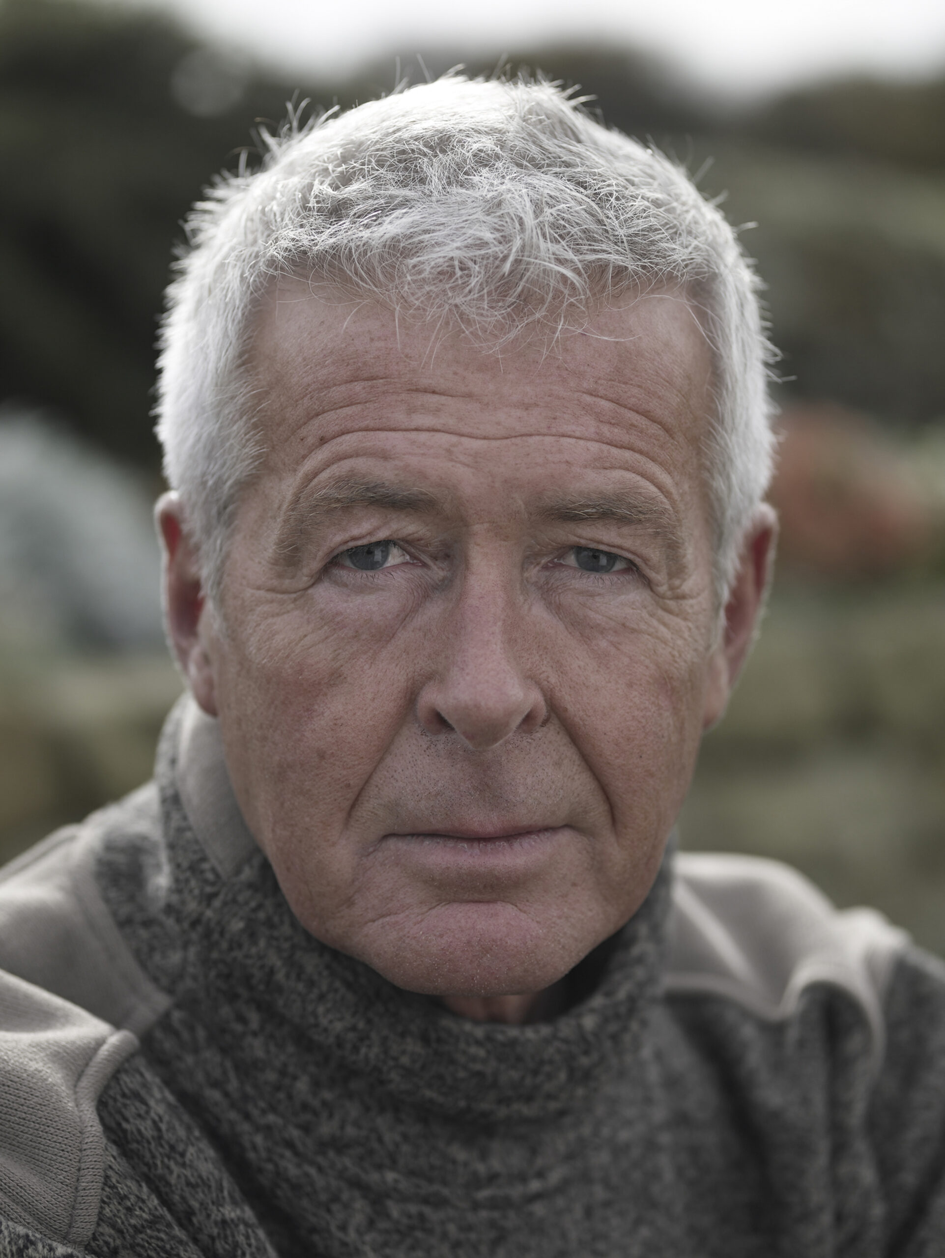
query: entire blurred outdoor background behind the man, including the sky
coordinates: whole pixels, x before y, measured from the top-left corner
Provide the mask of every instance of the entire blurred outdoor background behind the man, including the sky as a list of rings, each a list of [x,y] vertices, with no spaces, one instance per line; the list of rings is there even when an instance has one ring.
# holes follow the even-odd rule
[[[344,9],[344,11],[342,11]],[[945,952],[945,6],[0,0],[0,860],[148,776],[148,410],[180,220],[286,102],[541,68],[683,161],[768,282],[779,572],[683,847]]]

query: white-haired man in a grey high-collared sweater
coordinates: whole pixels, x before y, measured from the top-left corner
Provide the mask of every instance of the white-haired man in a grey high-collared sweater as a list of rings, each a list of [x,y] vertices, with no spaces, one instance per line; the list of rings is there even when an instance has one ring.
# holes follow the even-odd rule
[[[541,83],[194,211],[156,781],[0,887],[0,1253],[945,1252],[945,981],[677,857],[775,521],[755,281]]]

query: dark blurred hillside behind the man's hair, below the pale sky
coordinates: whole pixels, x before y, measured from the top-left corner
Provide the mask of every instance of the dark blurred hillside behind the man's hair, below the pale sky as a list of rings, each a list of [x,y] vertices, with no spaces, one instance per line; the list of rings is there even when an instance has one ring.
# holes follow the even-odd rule
[[[0,399],[52,405],[148,467],[156,321],[187,206],[292,97],[346,106],[396,74],[393,53],[338,83],[238,67],[214,102],[187,94],[200,55],[152,15],[0,4]],[[432,73],[459,60],[424,53]],[[715,159],[702,186],[727,192],[734,221],[761,224],[745,239],[771,286],[789,389],[896,421],[941,411],[945,79],[851,82],[734,109],[629,52],[537,48],[508,64],[580,84],[608,123],[692,170]],[[404,67],[422,77],[415,59]]]

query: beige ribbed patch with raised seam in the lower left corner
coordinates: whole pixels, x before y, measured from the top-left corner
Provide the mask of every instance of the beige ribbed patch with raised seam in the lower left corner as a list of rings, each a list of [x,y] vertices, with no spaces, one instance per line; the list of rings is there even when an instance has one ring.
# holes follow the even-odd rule
[[[96,1225],[104,1135],[96,1106],[137,1039],[0,971],[0,1215],[82,1248]]]

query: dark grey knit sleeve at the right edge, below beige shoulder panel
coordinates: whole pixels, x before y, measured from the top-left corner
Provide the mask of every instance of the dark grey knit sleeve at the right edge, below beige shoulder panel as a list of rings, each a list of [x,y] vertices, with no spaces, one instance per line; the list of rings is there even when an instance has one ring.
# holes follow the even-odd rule
[[[945,965],[909,949],[892,975],[871,1111],[888,1258],[945,1253]]]

